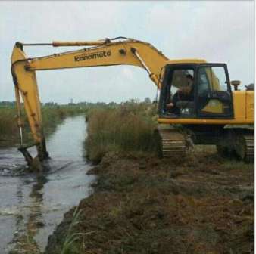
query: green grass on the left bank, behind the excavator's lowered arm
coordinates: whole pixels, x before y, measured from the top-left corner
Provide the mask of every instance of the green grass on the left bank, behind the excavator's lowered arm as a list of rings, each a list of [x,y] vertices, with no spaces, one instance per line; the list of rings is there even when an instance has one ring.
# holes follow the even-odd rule
[[[86,113],[86,108],[80,107],[42,107],[42,123],[45,135],[55,131],[55,128],[67,116],[75,116],[80,113]],[[23,111],[24,119],[24,139],[31,141],[30,125],[27,121],[26,113]],[[0,107],[0,145],[10,146],[19,142],[19,130],[17,128],[17,110],[14,107]]]

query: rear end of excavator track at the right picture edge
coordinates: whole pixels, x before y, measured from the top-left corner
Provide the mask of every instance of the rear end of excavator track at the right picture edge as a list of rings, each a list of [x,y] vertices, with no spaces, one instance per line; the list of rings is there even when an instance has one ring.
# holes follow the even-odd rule
[[[239,133],[236,138],[236,153],[242,160],[254,160],[254,134]]]

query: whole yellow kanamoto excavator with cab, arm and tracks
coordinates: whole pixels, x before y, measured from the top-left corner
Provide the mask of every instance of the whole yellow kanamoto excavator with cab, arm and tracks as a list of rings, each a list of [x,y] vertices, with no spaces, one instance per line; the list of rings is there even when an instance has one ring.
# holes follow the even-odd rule
[[[45,57],[27,57],[23,51],[25,46],[83,48]],[[214,144],[222,154],[236,153],[242,160],[254,160],[254,91],[239,91],[240,82],[230,82],[226,64],[210,64],[200,59],[169,60],[149,43],[117,37],[92,42],[16,42],[11,73],[20,129],[19,150],[29,165],[34,160],[27,151],[31,146],[36,145],[37,159],[48,158],[36,71],[122,64],[142,67],[160,91],[156,145],[161,156],[173,156],[173,153],[183,156],[191,144]],[[192,79],[189,98],[179,96],[188,85],[188,76]],[[34,143],[30,145],[23,144],[21,98],[33,134]],[[171,111],[174,107],[170,110],[167,105],[174,98],[179,99],[175,111]]]

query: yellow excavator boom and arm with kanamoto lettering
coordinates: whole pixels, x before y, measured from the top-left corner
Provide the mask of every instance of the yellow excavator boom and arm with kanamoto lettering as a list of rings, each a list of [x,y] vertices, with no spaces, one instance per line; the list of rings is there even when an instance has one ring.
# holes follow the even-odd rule
[[[30,45],[90,47],[52,54],[45,57],[29,58],[24,53],[23,47]],[[160,88],[161,69],[165,66],[167,60],[168,58],[152,45],[123,37],[95,42],[52,42],[47,44],[23,44],[17,42],[14,45],[11,56],[11,73],[14,79],[17,101],[18,126],[20,128],[20,151],[25,156],[27,162],[30,164],[31,160],[33,160],[30,153],[27,152],[27,148],[32,145],[36,145],[37,147],[39,160],[44,160],[48,157],[42,128],[36,70],[100,67],[123,64],[133,65],[145,69],[150,79]],[[34,144],[27,147],[23,145],[22,138],[23,122],[20,114],[21,98],[24,103],[34,140]]]

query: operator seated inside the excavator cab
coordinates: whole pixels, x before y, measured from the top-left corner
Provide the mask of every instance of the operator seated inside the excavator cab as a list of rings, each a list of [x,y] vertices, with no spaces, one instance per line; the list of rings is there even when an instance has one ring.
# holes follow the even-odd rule
[[[194,77],[191,74],[187,74],[186,81],[186,86],[176,91],[172,101],[166,104],[167,116],[176,118],[180,115],[180,108],[176,107],[178,101],[194,101]]]

